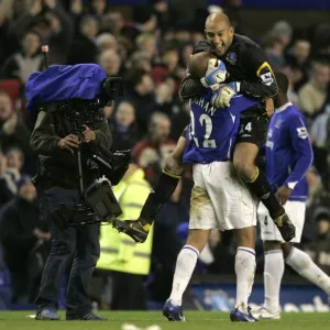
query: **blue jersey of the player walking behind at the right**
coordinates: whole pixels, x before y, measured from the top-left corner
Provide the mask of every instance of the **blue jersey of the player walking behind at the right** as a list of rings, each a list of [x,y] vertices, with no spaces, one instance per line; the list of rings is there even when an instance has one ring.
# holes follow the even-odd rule
[[[274,191],[285,185],[293,189],[289,200],[307,200],[305,175],[312,158],[306,119],[288,102],[273,114],[266,141],[266,176]]]

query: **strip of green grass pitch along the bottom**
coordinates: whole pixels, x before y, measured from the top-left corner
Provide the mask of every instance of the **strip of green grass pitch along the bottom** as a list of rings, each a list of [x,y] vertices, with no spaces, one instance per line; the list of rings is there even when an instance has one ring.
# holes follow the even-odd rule
[[[256,323],[231,322],[228,312],[187,311],[186,322],[169,322],[161,311],[130,312],[101,311],[109,317],[108,322],[95,321],[37,321],[29,318],[31,311],[0,311],[0,329],[2,330],[121,330],[124,323],[146,328],[157,324],[162,330],[219,330],[256,328],[265,330],[321,330],[330,329],[328,312],[283,314],[280,320],[260,321]],[[64,314],[59,312],[64,319]]]

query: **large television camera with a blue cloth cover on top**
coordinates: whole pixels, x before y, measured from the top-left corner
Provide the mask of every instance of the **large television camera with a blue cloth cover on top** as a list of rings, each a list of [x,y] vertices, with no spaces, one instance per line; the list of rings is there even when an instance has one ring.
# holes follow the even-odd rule
[[[40,111],[55,114],[69,123],[69,132],[77,136],[82,125],[94,128],[103,121],[102,108],[123,94],[120,77],[106,77],[95,64],[54,65],[43,73],[32,74],[26,82],[28,113],[34,120]],[[130,163],[131,151],[111,153],[102,146],[81,143],[75,153],[80,201],[78,205],[61,204],[50,217],[58,229],[68,227],[111,222],[122,210],[112,193]],[[84,162],[84,163],[82,163]],[[82,164],[95,178],[85,187]],[[105,179],[106,177],[106,179]],[[37,174],[34,183],[42,182]]]

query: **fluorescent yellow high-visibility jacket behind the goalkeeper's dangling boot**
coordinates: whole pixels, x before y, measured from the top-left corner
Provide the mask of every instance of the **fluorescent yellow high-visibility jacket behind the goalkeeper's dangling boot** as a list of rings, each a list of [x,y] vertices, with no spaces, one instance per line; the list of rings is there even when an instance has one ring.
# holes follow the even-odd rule
[[[150,189],[141,168],[113,187],[114,196],[122,208],[120,219],[138,219]],[[146,241],[143,244],[135,244],[131,238],[119,233],[112,227],[102,226],[101,255],[97,268],[147,275],[151,265],[152,240],[153,227]]]

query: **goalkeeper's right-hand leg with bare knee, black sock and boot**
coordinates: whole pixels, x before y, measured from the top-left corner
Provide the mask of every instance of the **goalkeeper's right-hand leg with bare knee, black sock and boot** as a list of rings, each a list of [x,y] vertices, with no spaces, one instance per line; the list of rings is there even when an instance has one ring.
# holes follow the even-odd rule
[[[295,237],[296,228],[283,206],[278,202],[265,174],[255,166],[254,162],[257,153],[258,147],[255,144],[248,142],[238,143],[234,150],[233,165],[249,189],[267,208],[283,240],[288,242]]]

